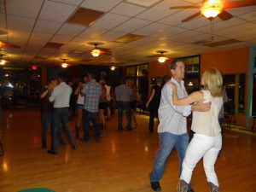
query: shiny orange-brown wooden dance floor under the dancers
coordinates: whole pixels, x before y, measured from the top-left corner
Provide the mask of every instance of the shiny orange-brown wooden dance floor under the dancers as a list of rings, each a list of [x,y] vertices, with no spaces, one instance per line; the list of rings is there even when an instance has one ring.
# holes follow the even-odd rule
[[[77,149],[58,146],[58,154],[53,155],[41,148],[37,108],[5,111],[0,128],[5,150],[0,157],[0,191],[30,188],[56,192],[152,191],[148,172],[158,148],[158,135],[156,131],[148,132],[147,115],[137,114],[137,119],[136,130],[119,132],[117,117],[112,117],[101,141],[77,140]],[[74,119],[70,125],[74,131]],[[224,129],[223,136],[222,154],[216,163],[220,191],[256,191],[256,133],[233,127],[231,131]],[[177,179],[174,150],[160,180],[162,191],[174,192]],[[192,185],[195,192],[209,191],[201,162],[195,168]]]

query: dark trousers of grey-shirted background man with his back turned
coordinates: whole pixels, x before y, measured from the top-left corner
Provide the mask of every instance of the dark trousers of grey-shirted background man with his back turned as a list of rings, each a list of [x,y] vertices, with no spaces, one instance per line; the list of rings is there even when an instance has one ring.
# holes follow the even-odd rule
[[[126,129],[131,129],[131,108],[130,102],[118,102],[118,112],[119,112],[119,130],[123,130],[123,113],[126,113],[127,125]]]

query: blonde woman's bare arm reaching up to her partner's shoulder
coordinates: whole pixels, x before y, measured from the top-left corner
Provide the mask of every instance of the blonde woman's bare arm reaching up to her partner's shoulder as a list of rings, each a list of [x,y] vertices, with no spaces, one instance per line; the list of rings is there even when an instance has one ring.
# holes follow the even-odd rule
[[[177,87],[175,84],[172,83],[172,102],[174,105],[190,105],[193,102],[200,102],[204,95],[201,90],[195,91],[191,93],[189,96],[186,96],[184,98],[178,98],[177,96]]]

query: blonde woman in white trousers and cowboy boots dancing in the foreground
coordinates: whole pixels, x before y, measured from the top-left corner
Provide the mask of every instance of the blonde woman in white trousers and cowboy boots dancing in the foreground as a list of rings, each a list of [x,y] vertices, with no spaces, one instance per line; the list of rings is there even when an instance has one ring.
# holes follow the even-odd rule
[[[177,183],[177,192],[187,192],[192,172],[201,158],[203,158],[204,170],[210,186],[210,192],[218,192],[218,178],[214,170],[214,164],[218,157],[218,151],[222,147],[221,128],[218,123],[218,113],[223,106],[222,85],[223,79],[217,69],[208,69],[202,75],[201,84],[204,90],[195,91],[187,97],[177,97],[176,84],[172,84],[173,103],[175,105],[188,105],[193,102],[212,102],[208,112],[193,112],[192,127],[195,135],[187,148],[183,160],[183,171]]]

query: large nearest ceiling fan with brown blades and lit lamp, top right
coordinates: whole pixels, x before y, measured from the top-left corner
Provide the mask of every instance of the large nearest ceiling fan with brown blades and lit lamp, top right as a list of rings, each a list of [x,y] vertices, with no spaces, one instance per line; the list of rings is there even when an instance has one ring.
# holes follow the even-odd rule
[[[171,7],[170,9],[201,9],[201,11],[191,15],[182,22],[186,22],[189,20],[194,19],[199,15],[203,15],[207,17],[207,19],[212,20],[216,16],[218,16],[221,20],[230,20],[233,15],[227,12],[225,9],[232,9],[232,8],[241,8],[241,7],[248,7],[256,5],[255,0],[240,0],[240,1],[224,1],[224,0],[203,0],[201,4],[192,5],[192,6],[175,6]],[[207,13],[213,12],[213,15],[207,15]]]

